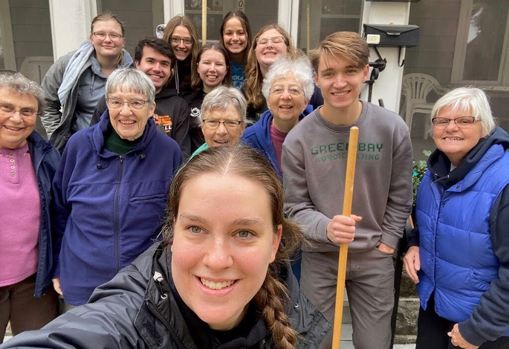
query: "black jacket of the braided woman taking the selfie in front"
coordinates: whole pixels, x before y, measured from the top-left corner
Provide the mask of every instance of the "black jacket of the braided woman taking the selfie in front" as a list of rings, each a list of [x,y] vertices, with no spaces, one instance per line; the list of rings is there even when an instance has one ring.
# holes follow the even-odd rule
[[[0,348],[276,348],[256,311],[247,313],[254,318],[246,336],[234,335],[227,341],[214,336],[215,331],[197,317],[189,318],[193,313],[175,291],[170,260],[171,252],[164,243],[153,245],[115,278],[96,288],[89,304],[66,312],[42,330],[21,333]],[[296,348],[318,348],[330,325],[302,295],[289,268],[281,278],[290,291],[286,313],[302,336]]]

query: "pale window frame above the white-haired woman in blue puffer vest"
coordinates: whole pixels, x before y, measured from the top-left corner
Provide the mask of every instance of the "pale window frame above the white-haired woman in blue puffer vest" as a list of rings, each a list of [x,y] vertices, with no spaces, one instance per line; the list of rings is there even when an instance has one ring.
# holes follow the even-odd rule
[[[497,80],[466,80],[463,79],[465,69],[465,55],[467,51],[468,31],[470,28],[470,14],[472,12],[473,0],[462,0],[460,7],[460,19],[458,21],[458,32],[454,50],[453,70],[451,72],[451,84],[455,85],[487,85],[487,86],[509,86],[509,13],[505,24],[505,34],[500,57],[500,68]],[[489,64],[489,63],[486,63]]]

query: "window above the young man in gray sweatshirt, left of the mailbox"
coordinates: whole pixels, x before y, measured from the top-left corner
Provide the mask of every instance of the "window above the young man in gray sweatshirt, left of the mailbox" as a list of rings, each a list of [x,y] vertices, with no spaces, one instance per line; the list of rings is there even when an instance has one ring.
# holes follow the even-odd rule
[[[316,47],[330,33],[359,32],[361,8],[362,2],[359,0],[300,0],[297,46],[303,50],[307,49],[308,25],[310,49]]]

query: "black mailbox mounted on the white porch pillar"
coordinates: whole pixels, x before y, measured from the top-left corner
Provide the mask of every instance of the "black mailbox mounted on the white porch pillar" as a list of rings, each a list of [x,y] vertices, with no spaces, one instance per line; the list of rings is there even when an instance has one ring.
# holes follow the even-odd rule
[[[417,25],[364,24],[363,37],[370,46],[412,47],[419,43]]]

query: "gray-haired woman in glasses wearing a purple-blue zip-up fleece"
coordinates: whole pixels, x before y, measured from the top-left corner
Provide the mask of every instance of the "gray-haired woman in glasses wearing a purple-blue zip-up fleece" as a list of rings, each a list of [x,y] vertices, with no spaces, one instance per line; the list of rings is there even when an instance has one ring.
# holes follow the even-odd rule
[[[169,185],[182,163],[178,144],[151,118],[155,88],[139,70],[106,82],[101,121],[75,133],[53,181],[53,286],[67,305],[87,303],[157,236]]]

